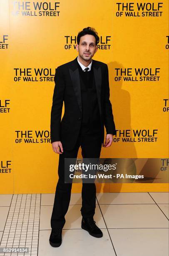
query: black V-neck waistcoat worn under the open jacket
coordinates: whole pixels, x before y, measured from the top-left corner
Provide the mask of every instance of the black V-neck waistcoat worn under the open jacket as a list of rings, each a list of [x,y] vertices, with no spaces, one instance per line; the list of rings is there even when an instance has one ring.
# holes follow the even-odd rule
[[[78,68],[82,95],[82,125],[80,134],[101,133],[100,113],[93,67],[91,67],[90,71],[85,72],[78,63]]]

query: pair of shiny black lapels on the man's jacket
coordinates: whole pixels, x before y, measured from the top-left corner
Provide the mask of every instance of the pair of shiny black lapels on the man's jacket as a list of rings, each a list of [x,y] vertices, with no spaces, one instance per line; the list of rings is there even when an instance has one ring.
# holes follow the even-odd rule
[[[75,91],[75,95],[77,97],[77,102],[80,108],[80,111],[82,112],[82,97],[81,97],[81,87],[80,87],[80,74],[78,69],[78,62],[77,57],[71,61],[71,65],[69,68],[70,77],[72,80],[72,85]],[[92,60],[92,66],[93,66],[93,73],[94,73],[94,80],[96,84],[96,91],[97,91],[97,99],[98,99],[98,105],[99,105],[99,111],[101,115],[101,82],[102,82],[102,73],[101,73],[101,67],[97,64],[97,61]]]

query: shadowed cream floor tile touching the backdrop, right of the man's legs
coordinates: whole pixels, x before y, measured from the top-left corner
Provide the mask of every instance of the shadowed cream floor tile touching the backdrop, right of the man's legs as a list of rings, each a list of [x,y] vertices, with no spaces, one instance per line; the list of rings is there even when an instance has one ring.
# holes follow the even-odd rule
[[[155,204],[147,192],[97,193],[99,204]]]

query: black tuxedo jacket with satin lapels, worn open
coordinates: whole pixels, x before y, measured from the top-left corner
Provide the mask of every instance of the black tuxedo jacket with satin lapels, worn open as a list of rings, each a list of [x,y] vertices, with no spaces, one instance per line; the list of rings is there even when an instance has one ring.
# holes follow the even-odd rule
[[[77,142],[82,123],[82,96],[77,57],[57,67],[55,88],[52,99],[50,140],[61,141],[63,150],[72,150]],[[112,105],[109,100],[109,73],[107,64],[92,60],[97,99],[101,120],[102,144],[104,143],[104,125],[107,134],[116,134]],[[62,116],[63,102],[65,113]]]

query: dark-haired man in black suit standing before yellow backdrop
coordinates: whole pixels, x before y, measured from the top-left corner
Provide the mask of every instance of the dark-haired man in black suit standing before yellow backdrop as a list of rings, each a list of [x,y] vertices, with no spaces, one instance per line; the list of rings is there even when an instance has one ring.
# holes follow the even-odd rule
[[[79,147],[83,158],[99,158],[102,146],[109,147],[116,134],[112,105],[109,100],[109,74],[107,64],[92,59],[97,51],[99,36],[94,28],[78,33],[78,56],[56,69],[55,89],[51,110],[50,138],[52,149],[60,154],[55,201],[50,235],[51,246],[62,243],[72,183],[65,183],[65,158],[77,158]],[[62,105],[65,113],[61,120]],[[104,125],[106,139],[104,143]],[[95,183],[82,184],[82,225],[91,236],[102,237],[102,231],[93,219],[96,207]]]

